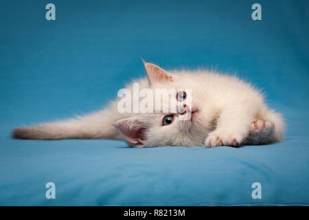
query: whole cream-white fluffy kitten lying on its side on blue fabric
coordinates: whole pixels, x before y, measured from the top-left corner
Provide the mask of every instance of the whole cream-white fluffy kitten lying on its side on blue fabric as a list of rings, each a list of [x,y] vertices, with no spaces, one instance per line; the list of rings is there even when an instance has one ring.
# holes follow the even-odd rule
[[[235,76],[208,71],[166,72],[152,63],[144,62],[144,65],[148,78],[135,82],[139,83],[140,90],[190,88],[190,105],[184,104],[183,111],[176,113],[119,113],[117,99],[102,111],[17,128],[12,136],[40,140],[124,139],[130,146],[137,147],[241,146],[282,140],[282,117],[266,107],[258,90]],[[126,88],[133,90],[132,85]],[[181,96],[183,94],[185,90]],[[176,100],[176,103],[182,101]],[[190,113],[191,119],[179,120],[183,113]]]

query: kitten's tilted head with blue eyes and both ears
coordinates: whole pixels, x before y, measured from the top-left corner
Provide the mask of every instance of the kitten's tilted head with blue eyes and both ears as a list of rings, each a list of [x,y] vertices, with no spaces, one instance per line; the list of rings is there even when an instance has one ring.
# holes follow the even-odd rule
[[[201,107],[203,85],[196,85],[190,76],[173,75],[152,63],[144,62],[144,66],[153,94],[156,89],[167,89],[171,91],[169,98],[154,98],[154,113],[138,113],[118,120],[115,125],[119,133],[130,146],[136,147],[202,146],[209,130]],[[158,111],[158,106],[166,108]]]

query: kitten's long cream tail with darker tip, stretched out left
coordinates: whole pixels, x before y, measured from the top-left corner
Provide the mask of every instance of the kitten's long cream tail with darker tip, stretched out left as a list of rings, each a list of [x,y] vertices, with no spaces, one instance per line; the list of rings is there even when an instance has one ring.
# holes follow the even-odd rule
[[[119,115],[118,115],[119,117]],[[61,139],[115,139],[121,140],[115,126],[117,115],[103,110],[76,119],[42,123],[14,129],[16,139],[61,140]]]

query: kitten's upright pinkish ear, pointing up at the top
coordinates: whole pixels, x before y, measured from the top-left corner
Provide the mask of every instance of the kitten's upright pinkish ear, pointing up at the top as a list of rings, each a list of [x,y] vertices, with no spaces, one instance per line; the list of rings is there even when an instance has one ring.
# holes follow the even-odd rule
[[[164,69],[161,69],[161,67],[148,63],[144,60],[142,60],[144,63],[144,67],[149,79],[150,84],[154,83],[166,83],[166,82],[173,82],[172,76],[170,76],[167,72],[165,72]]]

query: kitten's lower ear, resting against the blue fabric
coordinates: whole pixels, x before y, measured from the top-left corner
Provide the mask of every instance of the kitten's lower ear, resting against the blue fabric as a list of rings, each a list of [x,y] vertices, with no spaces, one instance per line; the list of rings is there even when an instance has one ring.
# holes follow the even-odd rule
[[[139,120],[138,116],[117,120],[114,124],[117,131],[131,146],[144,146],[147,126]]]

